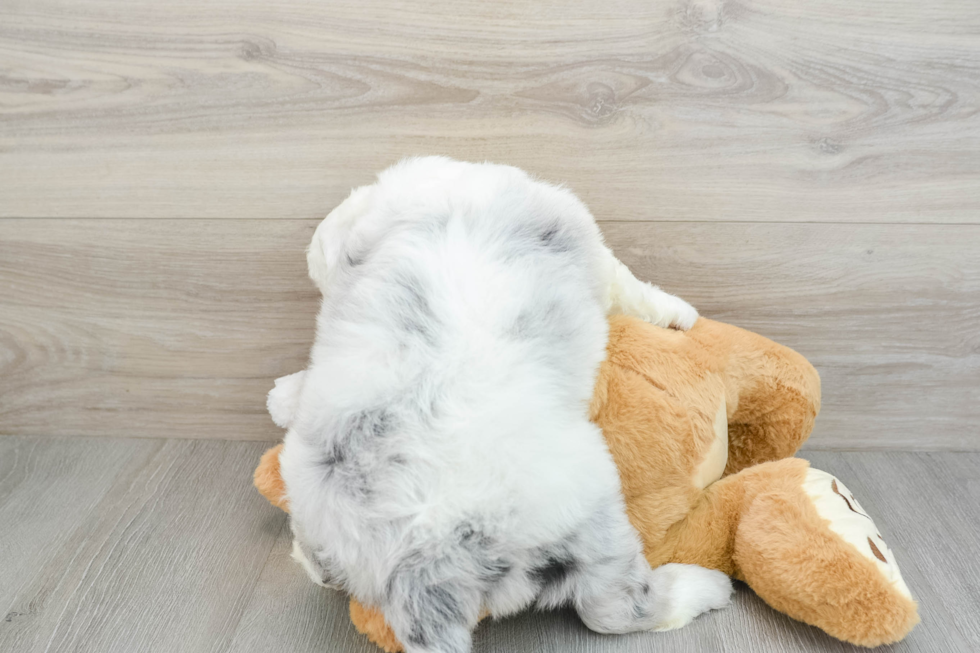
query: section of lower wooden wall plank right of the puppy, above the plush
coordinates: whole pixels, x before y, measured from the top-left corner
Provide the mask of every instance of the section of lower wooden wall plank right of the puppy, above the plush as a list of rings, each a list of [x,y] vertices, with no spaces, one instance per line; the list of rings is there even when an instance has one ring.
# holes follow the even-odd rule
[[[816,366],[808,448],[980,448],[980,227],[603,229],[641,278]]]

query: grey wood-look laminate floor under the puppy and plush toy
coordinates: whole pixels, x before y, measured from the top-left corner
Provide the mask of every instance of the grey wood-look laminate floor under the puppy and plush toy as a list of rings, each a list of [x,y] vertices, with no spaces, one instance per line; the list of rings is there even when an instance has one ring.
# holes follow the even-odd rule
[[[251,486],[269,443],[0,438],[0,651],[374,652],[346,598],[289,559]],[[808,452],[875,516],[920,602],[895,651],[980,650],[980,453]],[[846,651],[745,586],[671,633],[608,637],[574,613],[480,625],[475,651]]]

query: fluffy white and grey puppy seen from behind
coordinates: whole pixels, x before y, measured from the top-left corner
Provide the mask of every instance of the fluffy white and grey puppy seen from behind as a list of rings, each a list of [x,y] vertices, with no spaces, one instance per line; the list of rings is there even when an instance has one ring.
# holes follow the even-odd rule
[[[305,373],[270,395],[295,554],[380,607],[408,653],[470,650],[482,611],[575,607],[593,630],[684,625],[728,578],[651,570],[588,406],[606,314],[689,328],[568,190],[428,157],[317,228]]]

